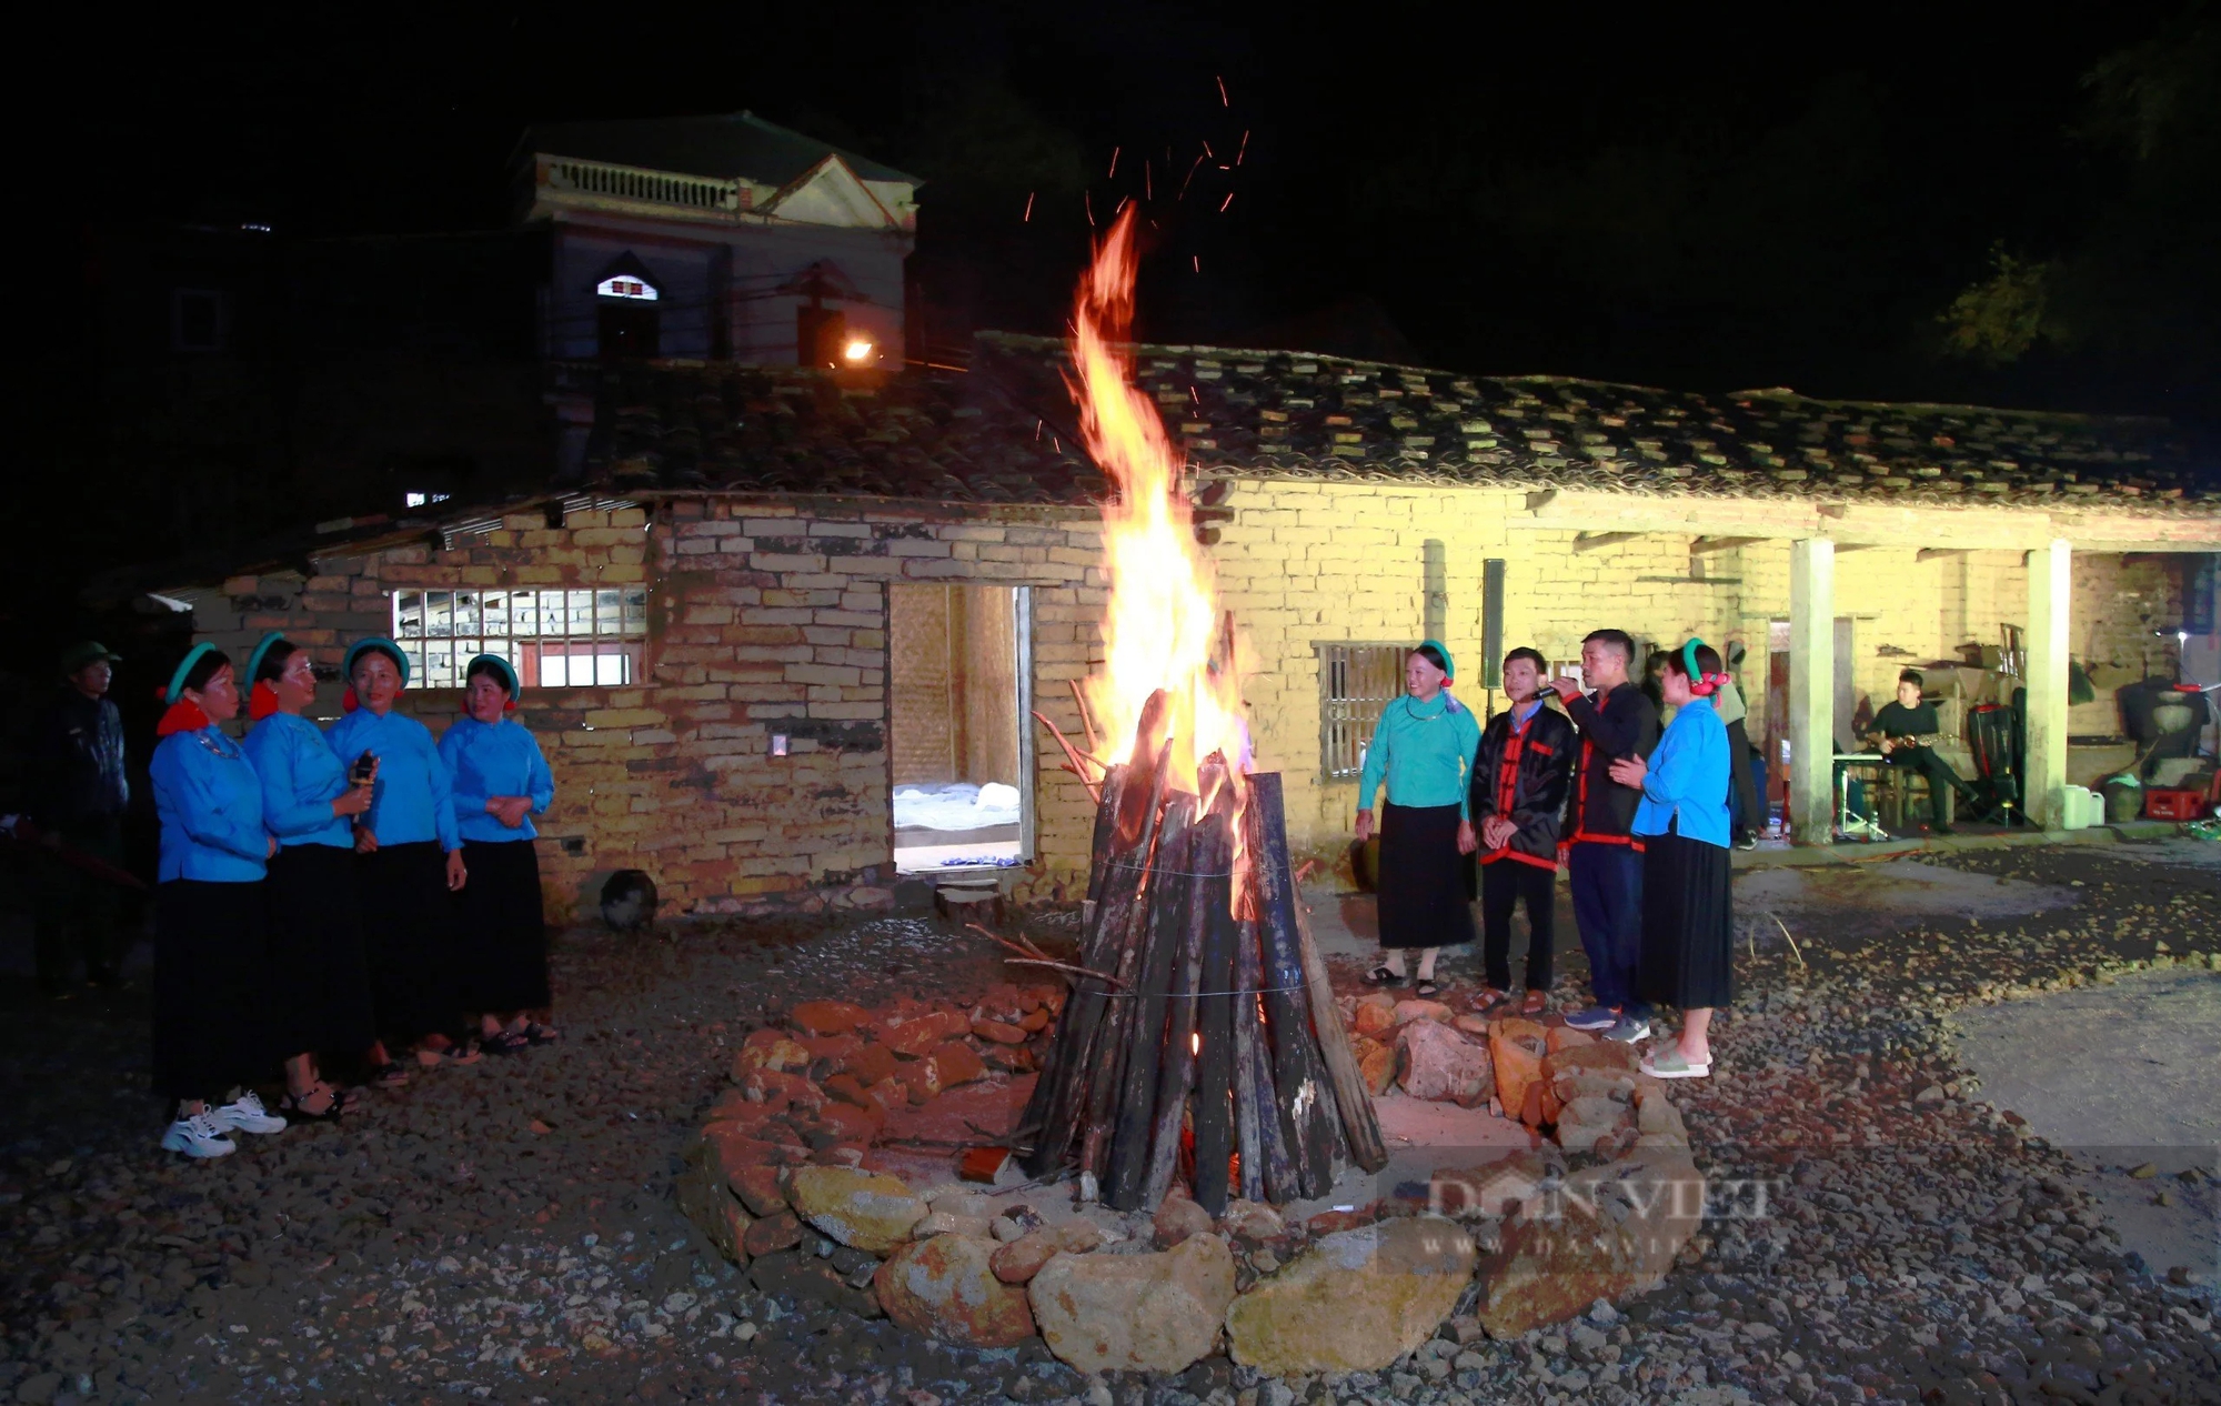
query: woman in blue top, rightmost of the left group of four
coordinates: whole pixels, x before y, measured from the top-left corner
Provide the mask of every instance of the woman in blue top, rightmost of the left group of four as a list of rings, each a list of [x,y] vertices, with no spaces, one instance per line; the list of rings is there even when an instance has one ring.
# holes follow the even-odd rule
[[[462,1008],[478,1011],[478,1046],[506,1055],[560,1037],[544,1024],[549,946],[533,848],[533,815],[555,800],[555,775],[531,729],[511,717],[520,689],[509,660],[478,655],[464,677],[466,715],[440,737],[471,871],[458,902]]]

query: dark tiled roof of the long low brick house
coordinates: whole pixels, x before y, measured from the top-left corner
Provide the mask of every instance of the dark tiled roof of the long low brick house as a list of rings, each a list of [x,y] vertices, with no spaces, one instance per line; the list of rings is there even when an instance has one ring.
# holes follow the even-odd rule
[[[1088,502],[1064,347],[982,333],[973,369],[842,386],[795,369],[633,364],[593,378],[591,482],[622,489]],[[2221,511],[2221,460],[2165,420],[1706,395],[1457,375],[1288,351],[1137,347],[1197,471],[1732,498],[2106,502]]]

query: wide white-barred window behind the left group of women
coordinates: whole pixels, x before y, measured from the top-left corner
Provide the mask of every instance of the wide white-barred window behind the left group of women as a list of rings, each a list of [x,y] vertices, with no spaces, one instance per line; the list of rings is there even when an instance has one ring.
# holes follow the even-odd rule
[[[646,637],[646,586],[393,593],[393,640],[420,689],[462,689],[478,655],[509,660],[526,689],[631,684]]]

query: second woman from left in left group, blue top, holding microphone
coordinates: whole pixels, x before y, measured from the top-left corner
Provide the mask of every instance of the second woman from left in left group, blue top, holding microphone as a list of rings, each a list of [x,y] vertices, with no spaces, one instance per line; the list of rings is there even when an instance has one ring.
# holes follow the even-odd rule
[[[302,717],[315,702],[315,664],[284,635],[264,635],[247,657],[247,760],[262,777],[262,824],[278,835],[269,913],[271,1011],[287,1055],[284,1111],[326,1122],[342,1113],[338,1088],[318,1073],[324,1051],[360,1055],[378,1040],[371,975],[355,902],[353,820],[371,809],[371,782],[355,784],[324,731]]]

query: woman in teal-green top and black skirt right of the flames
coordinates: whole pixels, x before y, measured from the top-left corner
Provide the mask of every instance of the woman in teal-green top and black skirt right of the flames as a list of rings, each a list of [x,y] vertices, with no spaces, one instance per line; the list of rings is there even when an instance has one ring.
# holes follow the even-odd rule
[[[1466,891],[1473,833],[1473,757],[1481,724],[1450,697],[1457,664],[1428,640],[1404,657],[1404,697],[1381,709],[1364,773],[1357,777],[1357,840],[1373,837],[1373,797],[1388,784],[1381,813],[1379,891],[1381,964],[1375,986],[1404,982],[1404,953],[1419,948],[1419,995],[1435,995],[1439,948],[1473,942],[1473,895]]]

